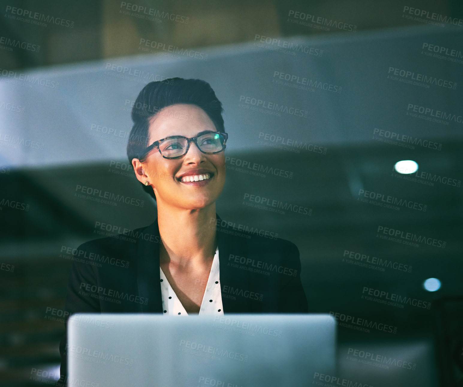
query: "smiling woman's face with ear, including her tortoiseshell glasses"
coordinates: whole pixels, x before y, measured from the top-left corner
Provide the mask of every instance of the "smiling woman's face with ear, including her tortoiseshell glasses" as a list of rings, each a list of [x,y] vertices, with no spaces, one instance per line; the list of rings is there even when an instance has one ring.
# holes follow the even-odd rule
[[[169,119],[165,119],[164,116],[170,112]],[[176,118],[176,113],[190,119],[183,121]],[[189,137],[191,135],[194,136]],[[158,137],[163,138],[153,141]],[[167,201],[188,202],[185,203],[188,208],[204,207],[215,203],[225,184],[225,156],[222,151],[226,138],[227,134],[217,132],[200,107],[171,105],[150,120],[149,142],[152,144],[131,163],[138,180],[152,188],[158,207],[164,207]],[[155,148],[159,152],[154,152]],[[205,188],[198,190],[191,187]],[[200,203],[194,204],[198,200]]]

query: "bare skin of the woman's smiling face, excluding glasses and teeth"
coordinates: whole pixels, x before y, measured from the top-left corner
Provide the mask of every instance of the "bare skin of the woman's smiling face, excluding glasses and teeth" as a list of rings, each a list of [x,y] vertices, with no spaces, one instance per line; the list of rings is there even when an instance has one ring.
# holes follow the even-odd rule
[[[217,131],[200,107],[171,105],[150,121],[148,144],[172,135],[195,137],[204,130]],[[224,188],[225,152],[204,154],[194,141],[191,141],[187,154],[178,159],[164,159],[155,148],[141,165],[146,175],[144,180],[153,187],[158,206],[167,204],[182,209],[202,209],[215,203]],[[190,181],[190,176],[195,175],[199,180]]]

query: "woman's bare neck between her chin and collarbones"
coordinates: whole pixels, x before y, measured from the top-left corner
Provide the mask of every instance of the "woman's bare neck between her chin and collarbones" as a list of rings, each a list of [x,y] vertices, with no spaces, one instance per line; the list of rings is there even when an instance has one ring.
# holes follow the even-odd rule
[[[157,209],[161,263],[188,268],[212,260],[217,248],[215,203],[197,210]]]

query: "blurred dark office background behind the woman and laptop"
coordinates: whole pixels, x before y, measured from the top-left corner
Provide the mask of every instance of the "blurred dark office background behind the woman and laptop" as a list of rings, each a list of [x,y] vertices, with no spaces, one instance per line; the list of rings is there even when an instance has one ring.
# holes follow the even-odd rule
[[[125,3],[176,19],[146,20]],[[18,10],[48,23],[27,22]],[[461,1],[11,0],[1,1],[0,11],[0,386],[50,384],[59,376],[71,265],[63,247],[99,237],[101,223],[133,229],[156,217],[119,141],[131,128],[131,101],[147,82],[142,71],[200,78],[214,88],[230,135],[217,212],[298,246],[310,312],[397,328],[340,326],[341,377],[375,387],[463,385]],[[432,13],[441,17],[437,24]],[[318,17],[346,27],[320,28]],[[168,56],[164,45],[196,58]],[[416,74],[450,87],[410,84]],[[297,77],[336,92],[304,90]],[[288,112],[268,114],[264,102],[253,110],[258,99]],[[432,121],[436,111],[448,119]],[[108,128],[122,135],[105,135]],[[415,161],[418,171],[394,171],[400,160]],[[243,161],[267,173],[243,172]],[[288,173],[269,172],[275,169]],[[145,205],[81,199],[78,185]],[[388,196],[399,209],[385,206]],[[285,213],[258,207],[261,198],[286,205]],[[407,233],[420,241],[404,243]],[[367,267],[359,264],[367,260]],[[427,291],[428,278],[441,288]],[[371,301],[365,288],[431,306]],[[349,349],[414,366],[375,367],[350,360]]]

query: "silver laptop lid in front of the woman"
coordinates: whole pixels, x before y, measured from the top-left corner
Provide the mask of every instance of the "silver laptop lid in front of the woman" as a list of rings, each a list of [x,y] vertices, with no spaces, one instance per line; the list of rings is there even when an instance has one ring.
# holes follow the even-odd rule
[[[328,314],[78,313],[67,345],[70,386],[306,387],[336,374]]]

